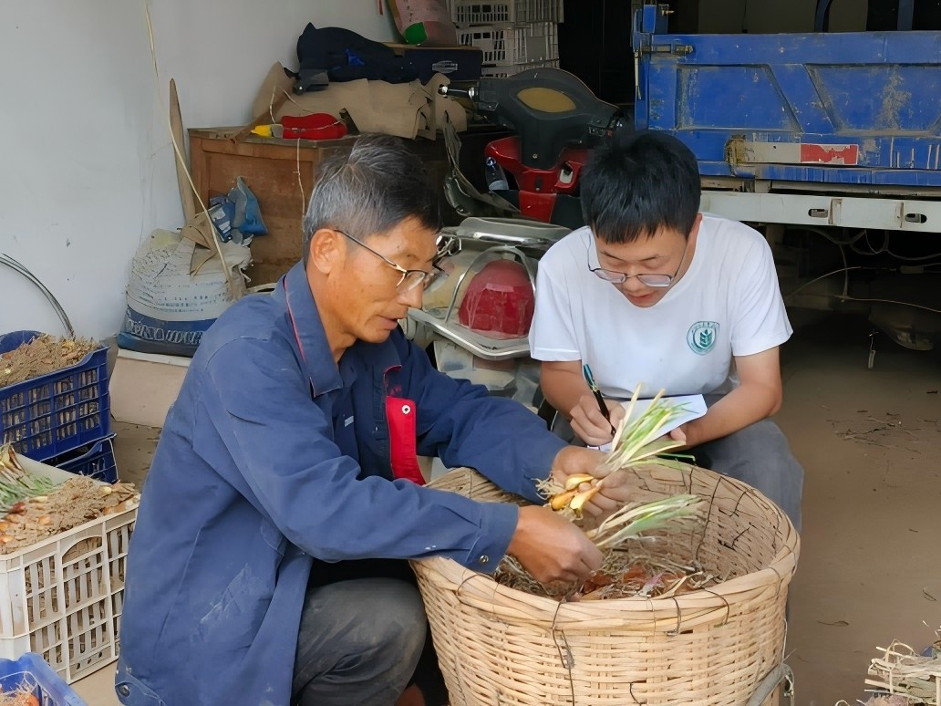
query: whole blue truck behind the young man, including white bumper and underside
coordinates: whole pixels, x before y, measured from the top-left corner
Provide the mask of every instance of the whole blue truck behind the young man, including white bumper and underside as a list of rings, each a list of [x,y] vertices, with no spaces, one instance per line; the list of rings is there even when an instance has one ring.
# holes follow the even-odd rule
[[[703,210],[761,224],[776,253],[793,230],[839,246],[822,247],[842,276],[810,289],[781,257],[782,291],[786,281],[802,290],[790,304],[855,307],[901,345],[931,347],[941,333],[929,283],[941,249],[928,237],[941,233],[941,32],[671,34],[668,16],[664,4],[634,15],[635,127],[688,145]],[[900,251],[917,255],[885,265]],[[853,292],[848,256],[894,274],[857,278]]]

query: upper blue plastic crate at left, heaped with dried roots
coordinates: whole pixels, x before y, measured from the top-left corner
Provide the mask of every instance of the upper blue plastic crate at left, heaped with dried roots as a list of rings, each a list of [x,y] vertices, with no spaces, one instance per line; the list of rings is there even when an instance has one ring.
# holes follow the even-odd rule
[[[0,335],[0,354],[32,341],[38,331]],[[3,443],[44,461],[111,432],[107,346],[68,368],[0,388]]]

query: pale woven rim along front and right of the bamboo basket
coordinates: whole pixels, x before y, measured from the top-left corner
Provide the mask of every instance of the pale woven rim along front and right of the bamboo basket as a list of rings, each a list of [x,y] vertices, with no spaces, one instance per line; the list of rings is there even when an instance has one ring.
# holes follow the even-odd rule
[[[708,469],[699,469],[707,473],[714,473]],[[449,473],[456,473],[462,469],[454,469]],[[443,477],[443,476],[442,476]],[[756,490],[756,493],[758,491]],[[758,493],[762,498],[763,495]],[[766,499],[766,498],[765,498]],[[767,500],[767,499],[766,499]],[[771,503],[771,501],[768,501]],[[774,555],[774,559],[763,569],[751,571],[723,581],[710,588],[700,588],[688,593],[681,593],[670,598],[643,598],[633,596],[630,598],[606,599],[604,601],[585,602],[558,602],[547,596],[538,596],[518,588],[511,588],[497,583],[490,574],[467,569],[455,560],[444,556],[430,556],[423,559],[412,560],[413,570],[422,573],[437,573],[454,586],[455,596],[462,600],[476,596],[490,602],[494,613],[500,613],[502,605],[511,611],[517,611],[520,602],[536,610],[544,611],[554,616],[555,624],[568,620],[583,622],[586,614],[595,618],[614,618],[616,622],[623,622],[625,615],[642,612],[645,615],[664,612],[669,614],[683,613],[686,610],[695,612],[710,612],[716,609],[726,610],[731,602],[730,598],[740,596],[742,593],[771,588],[773,586],[787,586],[797,569],[797,559],[800,551],[800,536],[783,510],[774,504],[774,509],[780,513],[785,532],[785,540],[781,548]],[[499,601],[498,601],[499,599]]]

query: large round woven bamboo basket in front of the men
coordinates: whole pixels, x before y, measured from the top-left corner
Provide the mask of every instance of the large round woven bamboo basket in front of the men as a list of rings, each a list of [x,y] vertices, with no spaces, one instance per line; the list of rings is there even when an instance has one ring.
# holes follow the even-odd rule
[[[451,706],[746,704],[782,665],[799,552],[788,517],[757,490],[705,469],[634,476],[639,501],[681,492],[710,501],[702,527],[671,546],[726,580],[668,599],[560,603],[450,559],[414,561]],[[469,469],[431,487],[525,503]]]

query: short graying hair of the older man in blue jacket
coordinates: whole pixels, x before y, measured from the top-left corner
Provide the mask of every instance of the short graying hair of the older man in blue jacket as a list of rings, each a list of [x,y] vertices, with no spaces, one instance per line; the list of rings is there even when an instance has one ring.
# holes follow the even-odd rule
[[[422,160],[388,135],[361,136],[350,152],[320,163],[304,216],[304,262],[311,237],[333,228],[360,240],[388,233],[408,217],[429,230],[441,227],[437,190]]]

